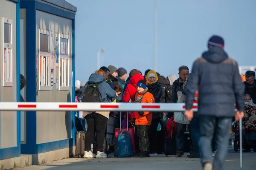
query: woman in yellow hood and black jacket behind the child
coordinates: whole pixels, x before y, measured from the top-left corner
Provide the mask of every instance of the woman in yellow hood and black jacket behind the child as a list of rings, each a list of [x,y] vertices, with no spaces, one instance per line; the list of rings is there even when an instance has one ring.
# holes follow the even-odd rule
[[[148,92],[153,94],[155,102],[162,102],[163,88],[158,81],[157,73],[151,70],[146,75],[146,80],[148,82]],[[163,118],[163,112],[153,112],[151,125],[149,128],[149,140],[150,140],[150,156],[157,156],[157,126],[160,119]]]

